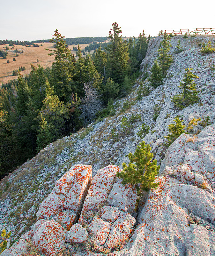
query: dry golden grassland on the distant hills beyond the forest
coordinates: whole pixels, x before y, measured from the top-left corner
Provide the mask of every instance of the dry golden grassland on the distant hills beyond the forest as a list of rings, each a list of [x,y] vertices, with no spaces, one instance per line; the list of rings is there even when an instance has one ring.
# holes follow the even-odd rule
[[[38,43],[38,45],[42,44],[43,46],[40,47],[26,47],[23,45],[16,45],[14,44],[14,48],[12,49],[12,46],[9,46],[9,44],[0,45],[0,49],[6,51],[6,46],[8,46],[9,51],[7,55],[7,59],[3,59],[3,57],[0,57],[0,86],[2,84],[5,84],[9,80],[17,79],[17,76],[12,76],[13,70],[18,70],[19,67],[24,66],[26,70],[21,71],[20,73],[22,75],[27,75],[30,73],[31,70],[31,63],[33,65],[40,64],[42,67],[51,67],[52,63],[55,60],[54,56],[48,56],[48,51],[46,49],[54,49],[53,43]],[[81,49],[85,49],[85,46],[88,46],[89,44],[80,44]],[[76,51],[73,51],[73,46],[76,46],[78,48],[78,45],[69,45],[69,49],[71,50],[71,53],[76,56]],[[4,49],[3,49],[4,47]],[[23,53],[18,52],[18,57],[16,57],[16,48]],[[15,53],[15,54],[14,54]],[[86,52],[88,53],[88,52]],[[93,53],[93,51],[91,51]],[[13,61],[13,57],[15,57],[16,61]],[[37,59],[39,62],[37,63]],[[10,60],[10,63],[7,63],[7,60]]]

